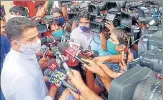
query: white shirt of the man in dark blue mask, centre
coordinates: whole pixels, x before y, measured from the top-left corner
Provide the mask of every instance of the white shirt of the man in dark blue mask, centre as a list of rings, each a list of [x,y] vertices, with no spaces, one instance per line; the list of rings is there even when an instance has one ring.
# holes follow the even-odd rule
[[[80,27],[75,28],[70,33],[70,39],[79,42],[85,50],[89,48],[92,36],[92,32],[82,32]]]

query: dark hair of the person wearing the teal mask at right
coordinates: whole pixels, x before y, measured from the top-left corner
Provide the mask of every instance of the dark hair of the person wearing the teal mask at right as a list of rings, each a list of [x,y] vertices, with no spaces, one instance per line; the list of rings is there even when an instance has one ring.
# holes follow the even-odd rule
[[[120,45],[128,46],[130,35],[126,31],[122,30],[121,28],[115,28],[115,35],[119,41]]]

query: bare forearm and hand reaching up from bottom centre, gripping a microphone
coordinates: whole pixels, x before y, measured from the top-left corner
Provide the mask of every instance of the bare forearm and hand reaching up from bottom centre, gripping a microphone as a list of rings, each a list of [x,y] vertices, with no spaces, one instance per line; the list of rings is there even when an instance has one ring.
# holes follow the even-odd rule
[[[69,73],[68,76],[72,84],[80,91],[81,95],[86,100],[102,100],[97,96],[93,91],[91,91],[83,82],[81,75],[78,71],[71,70],[72,73]]]

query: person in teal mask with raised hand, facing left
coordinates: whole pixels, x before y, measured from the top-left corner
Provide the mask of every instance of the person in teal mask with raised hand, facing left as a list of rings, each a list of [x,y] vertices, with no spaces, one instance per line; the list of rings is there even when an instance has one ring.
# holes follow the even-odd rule
[[[100,56],[104,55],[117,55],[124,51],[128,45],[129,34],[121,30],[120,28],[114,29],[113,23],[105,23],[106,27],[110,30],[110,38],[106,40],[105,37],[100,38],[101,47],[104,50],[101,52]],[[102,36],[103,34],[101,34]],[[106,40],[106,41],[104,41]]]

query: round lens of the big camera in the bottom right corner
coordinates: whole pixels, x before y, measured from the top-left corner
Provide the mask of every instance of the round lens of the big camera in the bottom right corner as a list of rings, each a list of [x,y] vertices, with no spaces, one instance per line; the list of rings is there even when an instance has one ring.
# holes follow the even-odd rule
[[[162,100],[161,81],[154,77],[141,81],[135,89],[133,100]]]

